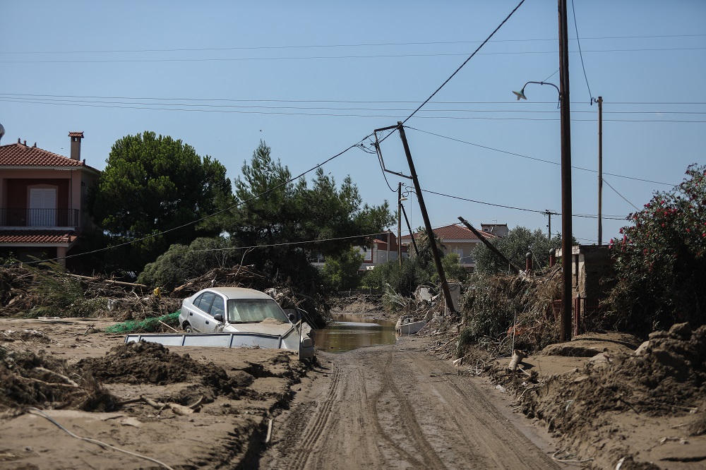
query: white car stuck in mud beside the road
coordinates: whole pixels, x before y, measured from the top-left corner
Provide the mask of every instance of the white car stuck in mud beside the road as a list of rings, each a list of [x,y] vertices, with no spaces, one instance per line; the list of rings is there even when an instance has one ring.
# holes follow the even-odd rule
[[[297,315],[287,315],[275,299],[241,287],[212,287],[184,299],[179,325],[186,333],[234,333],[280,337],[280,346],[299,349],[301,358],[314,354],[311,327]],[[301,342],[299,338],[301,337]]]

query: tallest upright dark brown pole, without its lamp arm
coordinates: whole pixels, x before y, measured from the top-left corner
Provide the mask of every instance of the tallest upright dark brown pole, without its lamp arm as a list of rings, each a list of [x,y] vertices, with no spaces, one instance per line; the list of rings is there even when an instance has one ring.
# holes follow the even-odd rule
[[[571,339],[571,117],[569,96],[569,50],[566,0],[558,0],[559,95],[561,97],[561,322],[559,340]]]

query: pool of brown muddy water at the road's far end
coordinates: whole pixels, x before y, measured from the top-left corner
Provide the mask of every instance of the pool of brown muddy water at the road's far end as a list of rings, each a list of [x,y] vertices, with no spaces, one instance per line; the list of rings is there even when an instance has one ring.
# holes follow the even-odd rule
[[[371,320],[364,315],[333,315],[333,322],[313,331],[316,349],[328,352],[351,351],[378,344],[395,344],[395,322]]]

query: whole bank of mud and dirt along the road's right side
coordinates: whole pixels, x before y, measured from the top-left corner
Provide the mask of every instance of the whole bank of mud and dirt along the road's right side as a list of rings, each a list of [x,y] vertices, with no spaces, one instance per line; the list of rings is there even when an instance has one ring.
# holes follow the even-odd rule
[[[706,326],[675,325],[649,342],[585,334],[507,369],[481,351],[465,370],[485,370],[516,411],[547,426],[557,457],[594,469],[706,468]],[[620,464],[620,466],[617,466]]]

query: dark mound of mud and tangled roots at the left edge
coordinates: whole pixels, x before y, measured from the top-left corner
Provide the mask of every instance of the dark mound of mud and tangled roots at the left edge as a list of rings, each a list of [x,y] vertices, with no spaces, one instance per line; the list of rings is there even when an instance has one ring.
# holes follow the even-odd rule
[[[0,409],[111,411],[116,399],[90,374],[66,361],[0,345]]]

